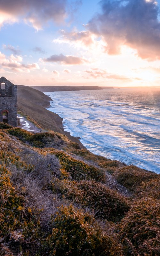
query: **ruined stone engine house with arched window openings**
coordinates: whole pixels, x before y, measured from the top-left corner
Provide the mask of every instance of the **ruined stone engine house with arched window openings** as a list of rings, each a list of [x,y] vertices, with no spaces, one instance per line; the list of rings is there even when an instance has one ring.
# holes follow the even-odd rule
[[[17,85],[0,78],[0,122],[17,126]]]

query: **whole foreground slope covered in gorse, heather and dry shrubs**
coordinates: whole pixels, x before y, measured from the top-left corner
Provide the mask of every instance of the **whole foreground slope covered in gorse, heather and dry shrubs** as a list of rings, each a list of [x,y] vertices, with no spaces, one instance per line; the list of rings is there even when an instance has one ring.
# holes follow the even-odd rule
[[[0,129],[0,255],[159,255],[158,174],[63,134]]]

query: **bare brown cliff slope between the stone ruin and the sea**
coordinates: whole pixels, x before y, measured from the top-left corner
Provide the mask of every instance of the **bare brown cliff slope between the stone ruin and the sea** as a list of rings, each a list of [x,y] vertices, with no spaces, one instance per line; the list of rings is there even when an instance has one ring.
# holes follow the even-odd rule
[[[74,142],[81,142],[73,136],[70,136],[69,132],[65,132],[62,125],[62,118],[47,109],[50,106],[50,97],[45,95],[36,89],[29,86],[18,85],[17,86],[17,106],[18,111],[27,116],[35,124],[38,124],[44,130],[49,129],[54,132],[60,132],[68,136],[68,138]]]

